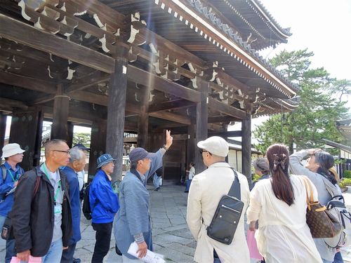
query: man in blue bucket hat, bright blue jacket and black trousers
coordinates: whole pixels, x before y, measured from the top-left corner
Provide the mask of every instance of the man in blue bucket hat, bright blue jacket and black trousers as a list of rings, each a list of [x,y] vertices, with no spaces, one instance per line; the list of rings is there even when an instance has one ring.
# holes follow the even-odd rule
[[[118,196],[111,185],[114,160],[110,154],[102,154],[98,158],[98,173],[89,190],[92,225],[96,231],[92,263],[102,263],[110,250],[112,222],[119,209]]]

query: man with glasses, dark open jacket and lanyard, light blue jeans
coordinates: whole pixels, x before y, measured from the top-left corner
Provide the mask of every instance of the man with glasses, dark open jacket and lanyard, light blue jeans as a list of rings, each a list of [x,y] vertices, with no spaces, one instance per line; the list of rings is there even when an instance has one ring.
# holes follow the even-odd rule
[[[61,166],[69,163],[65,141],[45,144],[46,161],[20,177],[11,211],[17,257],[29,255],[41,262],[60,262],[72,236],[72,215],[66,176]]]

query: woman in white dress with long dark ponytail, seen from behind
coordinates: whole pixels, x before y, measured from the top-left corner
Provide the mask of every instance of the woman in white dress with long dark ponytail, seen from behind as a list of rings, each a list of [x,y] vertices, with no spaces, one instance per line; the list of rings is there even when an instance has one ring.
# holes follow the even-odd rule
[[[271,177],[260,180],[250,193],[246,212],[250,229],[258,220],[256,241],[267,263],[321,263],[306,224],[306,188],[303,178],[289,175],[289,151],[273,144],[266,153]],[[317,189],[312,186],[314,196]]]

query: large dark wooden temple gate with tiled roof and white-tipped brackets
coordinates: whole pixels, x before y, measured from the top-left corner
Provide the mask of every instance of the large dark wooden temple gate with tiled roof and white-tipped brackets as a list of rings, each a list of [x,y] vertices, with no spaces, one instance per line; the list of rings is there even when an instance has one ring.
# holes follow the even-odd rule
[[[204,169],[199,140],[241,136],[250,178],[251,118],[297,106],[296,86],[256,50],[289,35],[255,0],[1,1],[0,142],[11,115],[10,142],[25,147],[30,168],[44,118],[69,144],[84,123],[92,174],[104,152],[121,163],[125,132],[155,151],[170,129],[165,178],[176,179],[190,161]],[[241,131],[227,132],[232,121]]]

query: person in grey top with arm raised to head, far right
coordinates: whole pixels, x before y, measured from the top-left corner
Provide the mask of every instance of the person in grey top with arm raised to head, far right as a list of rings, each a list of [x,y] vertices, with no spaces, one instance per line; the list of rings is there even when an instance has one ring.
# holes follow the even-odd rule
[[[307,159],[305,166],[301,163]],[[296,175],[307,176],[318,190],[318,200],[326,205],[333,196],[341,195],[340,187],[336,177],[329,172],[334,166],[334,159],[331,154],[320,149],[305,149],[291,154],[290,169]],[[314,238],[317,250],[324,263],[331,263],[337,252],[337,248],[331,248],[324,242],[324,238]]]

